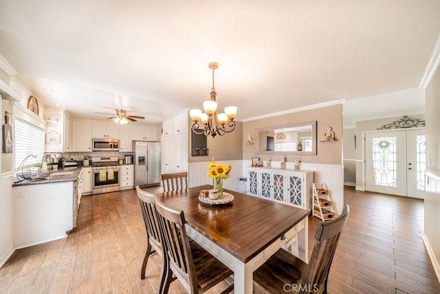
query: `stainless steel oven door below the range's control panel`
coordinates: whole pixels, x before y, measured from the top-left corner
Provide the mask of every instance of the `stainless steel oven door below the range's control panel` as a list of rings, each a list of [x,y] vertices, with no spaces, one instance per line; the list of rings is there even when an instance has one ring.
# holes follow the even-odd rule
[[[107,193],[119,191],[120,188],[120,169],[106,168],[106,169],[92,169],[92,194]]]

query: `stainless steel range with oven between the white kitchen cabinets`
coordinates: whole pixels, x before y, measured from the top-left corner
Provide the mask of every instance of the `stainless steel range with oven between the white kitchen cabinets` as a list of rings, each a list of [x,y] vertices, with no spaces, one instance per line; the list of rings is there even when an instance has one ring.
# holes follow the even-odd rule
[[[91,171],[93,173],[93,180],[91,181],[92,194],[119,191],[120,167],[118,159],[118,156],[91,158]]]

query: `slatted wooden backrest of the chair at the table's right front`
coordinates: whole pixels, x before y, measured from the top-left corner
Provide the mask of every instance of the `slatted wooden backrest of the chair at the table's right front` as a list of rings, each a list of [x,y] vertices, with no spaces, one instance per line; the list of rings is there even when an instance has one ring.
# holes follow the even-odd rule
[[[320,222],[315,234],[314,250],[301,282],[302,285],[316,285],[327,293],[327,278],[336,252],[342,229],[349,217],[350,209],[344,205],[341,215],[335,220]]]

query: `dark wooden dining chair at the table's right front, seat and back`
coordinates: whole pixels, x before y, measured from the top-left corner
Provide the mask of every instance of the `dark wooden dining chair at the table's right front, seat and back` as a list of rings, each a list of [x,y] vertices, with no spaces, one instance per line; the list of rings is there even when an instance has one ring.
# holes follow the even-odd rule
[[[254,287],[263,293],[327,293],[331,262],[349,214],[345,204],[338,218],[318,224],[309,264],[279,249],[254,271]]]

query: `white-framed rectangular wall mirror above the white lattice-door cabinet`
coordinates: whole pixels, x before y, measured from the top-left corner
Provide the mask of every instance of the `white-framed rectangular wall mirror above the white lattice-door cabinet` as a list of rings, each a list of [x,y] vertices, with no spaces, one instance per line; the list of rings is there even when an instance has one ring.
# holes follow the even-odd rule
[[[256,131],[256,154],[316,155],[316,121]]]

